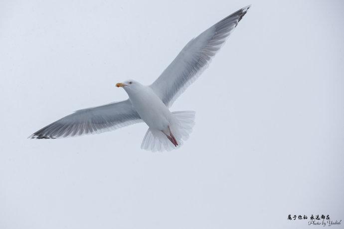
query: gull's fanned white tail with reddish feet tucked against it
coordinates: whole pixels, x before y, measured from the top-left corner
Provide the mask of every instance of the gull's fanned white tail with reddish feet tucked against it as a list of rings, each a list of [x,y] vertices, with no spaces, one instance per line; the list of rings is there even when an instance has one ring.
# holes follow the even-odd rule
[[[163,131],[149,128],[142,141],[141,149],[162,152],[179,148],[192,132],[192,127],[195,124],[194,119],[194,111],[172,112],[172,122],[169,129],[164,130],[164,133]]]

